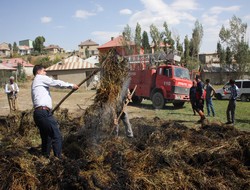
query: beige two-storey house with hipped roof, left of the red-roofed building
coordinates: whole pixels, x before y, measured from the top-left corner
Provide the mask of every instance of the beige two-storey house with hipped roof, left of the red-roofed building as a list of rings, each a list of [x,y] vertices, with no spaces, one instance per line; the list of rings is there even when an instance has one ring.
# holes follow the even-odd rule
[[[98,49],[97,49],[98,46],[99,46],[99,44],[92,41],[91,39],[88,39],[84,42],[81,42],[78,45],[78,47],[79,47],[78,55],[83,59],[86,59],[89,56],[98,55]],[[86,55],[87,51],[88,51],[88,55]]]

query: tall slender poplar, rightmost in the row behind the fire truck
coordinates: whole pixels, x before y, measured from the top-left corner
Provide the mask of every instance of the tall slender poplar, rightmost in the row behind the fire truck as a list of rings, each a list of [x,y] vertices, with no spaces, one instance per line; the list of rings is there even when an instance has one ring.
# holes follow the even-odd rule
[[[194,29],[192,33],[192,57],[197,57],[199,55],[200,46],[203,38],[203,26],[198,20],[195,21]]]

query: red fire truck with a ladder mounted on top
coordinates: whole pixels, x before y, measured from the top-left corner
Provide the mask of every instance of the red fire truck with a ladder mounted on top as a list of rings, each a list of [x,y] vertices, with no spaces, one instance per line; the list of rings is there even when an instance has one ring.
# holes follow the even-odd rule
[[[183,107],[189,101],[192,81],[187,68],[173,63],[180,61],[176,53],[133,55],[127,58],[131,70],[130,91],[137,86],[132,97],[133,103],[140,104],[143,99],[148,99],[154,108],[162,109],[165,103]]]

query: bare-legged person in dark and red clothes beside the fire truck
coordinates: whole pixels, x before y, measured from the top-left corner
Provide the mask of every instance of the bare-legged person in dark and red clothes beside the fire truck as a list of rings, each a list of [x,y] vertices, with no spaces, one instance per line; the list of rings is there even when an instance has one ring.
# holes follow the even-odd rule
[[[196,87],[196,102],[195,102],[195,110],[200,116],[200,120],[198,122],[202,122],[203,120],[206,119],[204,115],[204,98],[203,98],[203,82],[200,79],[200,76],[196,76],[196,82],[197,82],[197,87]]]

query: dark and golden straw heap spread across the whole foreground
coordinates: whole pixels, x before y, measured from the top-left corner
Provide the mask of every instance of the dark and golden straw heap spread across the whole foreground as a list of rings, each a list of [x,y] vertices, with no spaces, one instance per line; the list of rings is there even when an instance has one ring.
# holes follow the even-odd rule
[[[82,118],[63,113],[58,114],[66,137],[62,160],[40,156],[31,112],[0,120],[0,189],[250,188],[247,132],[217,123],[195,130],[134,118],[134,139],[107,136],[92,144],[87,133],[78,132]]]

